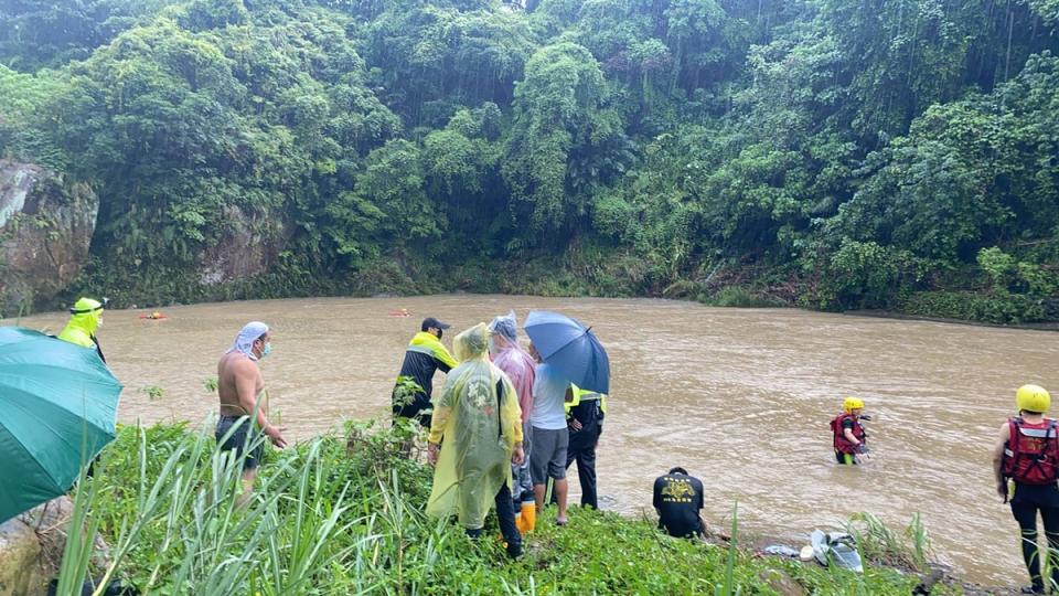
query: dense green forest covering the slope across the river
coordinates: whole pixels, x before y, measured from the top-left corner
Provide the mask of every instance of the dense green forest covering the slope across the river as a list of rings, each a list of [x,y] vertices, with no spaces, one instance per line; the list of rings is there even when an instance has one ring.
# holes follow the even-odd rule
[[[1059,318],[1057,0],[8,0],[0,23],[0,157],[100,199],[71,294]],[[268,267],[211,284],[236,228]]]

